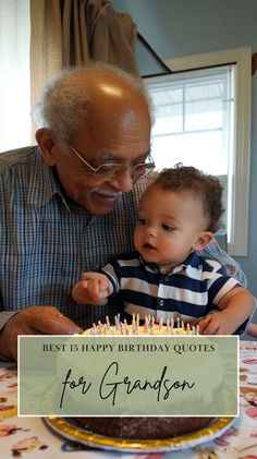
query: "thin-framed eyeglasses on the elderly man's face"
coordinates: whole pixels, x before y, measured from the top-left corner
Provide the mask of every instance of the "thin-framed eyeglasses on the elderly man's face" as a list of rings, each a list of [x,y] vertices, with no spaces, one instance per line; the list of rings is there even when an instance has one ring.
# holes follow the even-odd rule
[[[146,158],[146,162],[140,162],[136,166],[126,166],[121,165],[120,162],[106,162],[103,165],[98,166],[97,168],[89,165],[85,158],[83,158],[79,153],[69,143],[68,144],[73,153],[81,159],[84,165],[89,169],[89,173],[94,174],[97,179],[112,179],[114,177],[122,176],[126,170],[130,171],[131,179],[133,182],[136,182],[143,177],[146,177],[149,172],[151,172],[156,165],[150,156],[150,154]]]

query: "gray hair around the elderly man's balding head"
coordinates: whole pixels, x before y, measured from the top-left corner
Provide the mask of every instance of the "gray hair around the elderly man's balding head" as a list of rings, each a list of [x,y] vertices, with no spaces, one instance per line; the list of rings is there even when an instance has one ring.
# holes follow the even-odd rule
[[[81,126],[87,114],[87,101],[90,92],[87,85],[77,78],[89,70],[110,73],[120,77],[128,87],[143,96],[152,121],[152,105],[140,77],[133,76],[121,69],[101,62],[75,67],[59,72],[44,88],[39,102],[33,110],[33,117],[39,128],[49,128],[64,142]]]

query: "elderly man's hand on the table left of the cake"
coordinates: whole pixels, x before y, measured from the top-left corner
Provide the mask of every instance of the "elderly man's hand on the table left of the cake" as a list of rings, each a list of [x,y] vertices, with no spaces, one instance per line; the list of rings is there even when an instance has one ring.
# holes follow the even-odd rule
[[[81,333],[53,306],[29,306],[13,315],[0,333],[0,355],[17,360],[19,335],[73,335]]]

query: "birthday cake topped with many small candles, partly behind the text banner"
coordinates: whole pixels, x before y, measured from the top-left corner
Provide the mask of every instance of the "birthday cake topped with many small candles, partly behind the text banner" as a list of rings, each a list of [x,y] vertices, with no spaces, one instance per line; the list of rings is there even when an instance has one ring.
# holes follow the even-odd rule
[[[139,325],[139,317],[133,315],[132,324],[125,321],[121,322],[120,317],[115,317],[115,325],[111,326],[107,317],[106,324],[98,322],[91,328],[85,330],[84,335],[198,335],[198,327],[191,327],[183,321],[168,319],[163,325],[155,323],[152,317],[146,317],[145,324]],[[96,434],[111,437],[131,438],[131,439],[163,439],[176,437],[179,435],[188,434],[207,426],[213,418],[143,418],[143,416],[115,416],[115,418],[75,418],[73,421]]]

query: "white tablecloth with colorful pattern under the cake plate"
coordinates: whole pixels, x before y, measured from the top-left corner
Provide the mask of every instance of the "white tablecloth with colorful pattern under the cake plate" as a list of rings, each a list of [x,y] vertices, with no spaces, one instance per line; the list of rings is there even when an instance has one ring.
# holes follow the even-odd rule
[[[220,437],[194,448],[123,454],[88,448],[53,434],[40,418],[17,418],[14,364],[0,365],[0,459],[257,459],[257,341],[241,341],[241,415]]]

